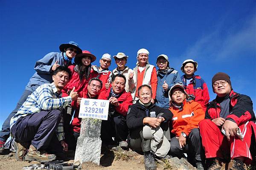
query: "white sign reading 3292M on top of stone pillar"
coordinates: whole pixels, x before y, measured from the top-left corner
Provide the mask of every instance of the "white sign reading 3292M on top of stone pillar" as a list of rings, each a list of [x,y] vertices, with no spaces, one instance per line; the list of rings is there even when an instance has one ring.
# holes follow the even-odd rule
[[[97,118],[108,120],[108,100],[82,98],[79,118]]]

